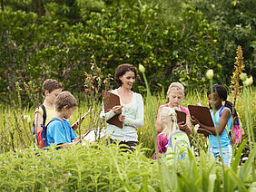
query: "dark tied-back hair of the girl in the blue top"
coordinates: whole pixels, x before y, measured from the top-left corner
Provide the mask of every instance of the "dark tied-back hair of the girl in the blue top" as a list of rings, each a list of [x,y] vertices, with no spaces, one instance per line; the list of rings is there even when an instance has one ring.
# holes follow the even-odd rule
[[[228,91],[227,89],[221,85],[221,84],[214,84],[213,85],[213,92],[217,92],[217,94],[219,95],[219,97],[222,99],[222,101],[225,101],[224,106],[226,106],[227,108],[229,108],[232,112],[233,109],[233,105],[231,103],[231,101],[227,101],[228,98]],[[211,94],[211,88],[209,88],[209,90],[207,91],[207,96]],[[234,114],[233,117],[237,117],[237,112],[234,109]]]

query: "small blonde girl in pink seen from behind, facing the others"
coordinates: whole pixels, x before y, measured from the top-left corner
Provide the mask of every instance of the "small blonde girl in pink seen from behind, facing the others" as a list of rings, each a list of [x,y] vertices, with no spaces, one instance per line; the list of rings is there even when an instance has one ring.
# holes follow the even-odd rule
[[[162,123],[162,132],[156,137],[157,148],[159,153],[165,153],[166,145],[170,139],[172,131],[180,130],[177,124],[177,114],[173,108],[163,107],[158,111],[159,120]],[[154,153],[154,159],[156,159]]]

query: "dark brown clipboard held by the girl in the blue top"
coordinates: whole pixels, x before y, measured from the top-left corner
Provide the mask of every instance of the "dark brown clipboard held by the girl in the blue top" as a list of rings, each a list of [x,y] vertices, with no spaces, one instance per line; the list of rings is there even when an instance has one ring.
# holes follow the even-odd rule
[[[214,127],[212,116],[208,107],[189,105],[191,116],[202,122],[202,124]]]

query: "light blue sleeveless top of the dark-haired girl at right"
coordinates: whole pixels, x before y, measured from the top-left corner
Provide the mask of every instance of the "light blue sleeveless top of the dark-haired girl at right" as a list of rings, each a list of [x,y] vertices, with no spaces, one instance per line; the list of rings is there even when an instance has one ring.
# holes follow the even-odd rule
[[[222,108],[221,108],[222,109]],[[221,117],[220,117],[220,110],[216,111],[215,115],[214,115],[214,112],[213,110],[211,110],[211,115],[212,115],[212,121],[214,123],[214,126],[218,128],[219,126],[219,122],[221,120]],[[227,107],[224,107],[223,110],[226,110],[228,109],[231,113],[231,110]],[[222,110],[222,113],[223,113],[223,110]],[[214,120],[215,118],[215,120]],[[231,117],[230,119],[228,120],[227,122],[227,125],[228,126],[228,129],[231,130]],[[220,142],[221,142],[221,146],[222,147],[226,147],[228,145],[231,144],[231,140],[229,138],[229,133],[228,131],[226,130],[226,127],[225,129],[223,130],[222,134],[220,135]],[[219,148],[219,142],[218,142],[218,136],[217,135],[209,135],[209,147],[213,147],[213,148]]]

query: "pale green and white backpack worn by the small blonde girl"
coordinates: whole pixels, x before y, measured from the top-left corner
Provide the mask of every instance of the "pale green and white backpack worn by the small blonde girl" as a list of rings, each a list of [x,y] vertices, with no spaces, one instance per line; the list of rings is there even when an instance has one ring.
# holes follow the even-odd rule
[[[172,132],[166,148],[166,159],[183,160],[187,154],[187,149],[191,149],[190,139],[184,131],[175,130]]]

